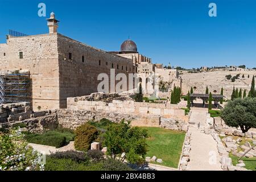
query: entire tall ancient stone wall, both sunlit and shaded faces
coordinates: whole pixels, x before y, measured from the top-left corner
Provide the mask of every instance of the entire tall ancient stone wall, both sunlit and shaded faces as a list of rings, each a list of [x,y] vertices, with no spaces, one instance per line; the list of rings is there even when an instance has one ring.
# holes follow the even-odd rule
[[[34,110],[65,108],[67,97],[97,92],[100,73],[108,75],[110,88],[112,68],[115,75],[124,73],[128,76],[135,72],[132,60],[57,33],[9,36],[6,44],[0,44],[0,55],[0,71],[30,71]]]

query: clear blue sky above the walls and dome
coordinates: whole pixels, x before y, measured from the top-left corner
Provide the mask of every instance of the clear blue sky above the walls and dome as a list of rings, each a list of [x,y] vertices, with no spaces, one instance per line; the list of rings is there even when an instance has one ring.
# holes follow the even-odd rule
[[[40,2],[47,17],[38,16]],[[208,15],[211,2],[217,17]],[[60,20],[60,34],[105,51],[118,51],[130,36],[154,63],[256,67],[255,0],[1,0],[0,43],[9,29],[46,34],[51,11]]]

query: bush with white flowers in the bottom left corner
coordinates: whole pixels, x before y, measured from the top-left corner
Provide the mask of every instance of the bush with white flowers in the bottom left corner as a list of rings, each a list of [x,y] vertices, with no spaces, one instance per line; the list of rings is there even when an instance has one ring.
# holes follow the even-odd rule
[[[0,171],[43,171],[42,155],[24,140],[20,129],[0,134]]]

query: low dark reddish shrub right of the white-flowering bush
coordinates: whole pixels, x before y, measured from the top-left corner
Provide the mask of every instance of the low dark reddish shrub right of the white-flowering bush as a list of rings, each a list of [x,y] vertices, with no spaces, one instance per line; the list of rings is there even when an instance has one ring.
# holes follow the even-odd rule
[[[72,159],[77,163],[89,163],[89,157],[84,152],[79,152],[75,150],[69,151],[58,151],[49,155],[49,158],[56,158],[56,159]]]

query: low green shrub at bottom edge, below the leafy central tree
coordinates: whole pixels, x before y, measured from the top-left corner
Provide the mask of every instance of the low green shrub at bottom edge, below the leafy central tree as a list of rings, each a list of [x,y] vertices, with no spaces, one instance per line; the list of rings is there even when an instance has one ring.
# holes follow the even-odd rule
[[[106,159],[103,162],[103,168],[105,171],[132,171],[127,164],[115,159]]]

